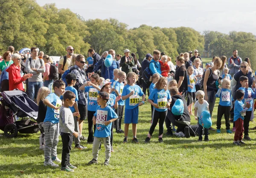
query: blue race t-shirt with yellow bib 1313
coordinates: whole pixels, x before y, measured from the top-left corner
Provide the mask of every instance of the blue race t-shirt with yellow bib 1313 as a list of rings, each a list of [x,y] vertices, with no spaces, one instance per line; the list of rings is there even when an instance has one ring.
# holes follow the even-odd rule
[[[125,108],[126,109],[134,109],[136,108],[140,103],[140,96],[143,96],[144,93],[140,86],[134,85],[131,86],[129,84],[125,85],[122,96],[128,95],[131,91],[134,91],[134,95],[131,95],[129,98],[125,100]]]

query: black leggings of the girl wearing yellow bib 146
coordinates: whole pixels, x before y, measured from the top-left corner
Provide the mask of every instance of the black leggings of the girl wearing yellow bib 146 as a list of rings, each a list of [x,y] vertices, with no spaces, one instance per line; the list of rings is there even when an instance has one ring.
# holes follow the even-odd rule
[[[167,115],[167,110],[163,112],[159,112],[157,110],[153,110],[152,115],[152,123],[149,129],[149,134],[152,136],[155,127],[157,126],[157,122],[159,121],[159,137],[163,137],[163,123]]]

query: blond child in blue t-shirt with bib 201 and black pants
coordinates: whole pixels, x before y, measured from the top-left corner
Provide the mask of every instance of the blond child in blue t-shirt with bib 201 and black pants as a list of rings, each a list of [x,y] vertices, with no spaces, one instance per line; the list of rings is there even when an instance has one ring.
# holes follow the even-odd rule
[[[226,132],[232,133],[230,131],[230,111],[233,107],[232,105],[232,97],[230,91],[230,80],[224,78],[221,83],[221,87],[219,86],[218,92],[215,95],[220,98],[220,102],[218,105],[218,113],[217,113],[217,133],[221,133],[221,118],[224,115],[225,123],[226,123]]]

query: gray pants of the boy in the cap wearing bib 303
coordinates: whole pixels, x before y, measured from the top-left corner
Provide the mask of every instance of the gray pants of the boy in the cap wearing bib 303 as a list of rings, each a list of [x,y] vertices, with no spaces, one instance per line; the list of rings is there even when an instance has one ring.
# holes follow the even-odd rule
[[[98,160],[99,155],[99,145],[103,142],[105,146],[105,160],[109,161],[109,158],[111,157],[111,145],[110,145],[110,137],[106,138],[99,138],[94,137],[93,139],[93,158]]]

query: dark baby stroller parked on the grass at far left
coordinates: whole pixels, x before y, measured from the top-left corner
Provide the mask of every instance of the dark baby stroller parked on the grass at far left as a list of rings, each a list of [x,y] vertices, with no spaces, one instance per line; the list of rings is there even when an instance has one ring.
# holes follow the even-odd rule
[[[20,133],[37,133],[38,105],[20,90],[5,91],[0,94],[0,129],[8,138]],[[20,118],[16,121],[16,116]]]

